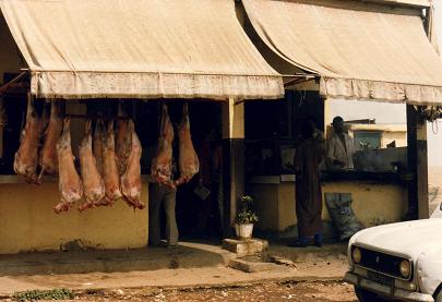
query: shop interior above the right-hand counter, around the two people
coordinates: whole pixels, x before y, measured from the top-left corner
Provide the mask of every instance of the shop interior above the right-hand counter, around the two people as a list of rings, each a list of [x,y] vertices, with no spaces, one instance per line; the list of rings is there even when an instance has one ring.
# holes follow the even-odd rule
[[[286,90],[285,99],[250,101],[244,107],[246,174],[292,174],[292,160],[301,142],[300,125],[313,120],[315,128],[330,137],[333,117],[345,111],[331,110],[333,101],[321,98],[315,90]],[[363,107],[361,107],[363,108]],[[392,112],[393,113],[393,112]],[[383,114],[383,112],[381,112]],[[363,114],[361,114],[363,116]],[[344,119],[345,131],[354,140],[353,171],[330,171],[323,165],[323,177],[378,178],[380,174],[405,173],[407,169],[406,124],[377,123],[377,114],[363,119]],[[266,121],[263,123],[262,121]],[[404,116],[405,120],[405,116]]]

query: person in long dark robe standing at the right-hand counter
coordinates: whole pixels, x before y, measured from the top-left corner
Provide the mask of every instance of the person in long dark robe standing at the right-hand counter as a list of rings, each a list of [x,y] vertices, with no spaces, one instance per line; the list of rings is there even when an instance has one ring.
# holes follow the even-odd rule
[[[298,241],[289,246],[306,247],[314,238],[314,245],[322,246],[322,190],[320,164],[324,157],[323,143],[313,137],[314,128],[306,122],[301,126],[303,142],[295,154],[296,216]]]

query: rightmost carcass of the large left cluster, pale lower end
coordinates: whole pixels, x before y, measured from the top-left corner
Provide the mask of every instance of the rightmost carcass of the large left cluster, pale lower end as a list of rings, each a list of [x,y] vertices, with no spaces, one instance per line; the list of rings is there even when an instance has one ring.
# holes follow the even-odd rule
[[[140,201],[141,196],[141,153],[142,147],[139,136],[135,133],[133,121],[128,122],[128,136],[131,137],[130,154],[128,166],[121,177],[121,192],[124,201],[133,208],[144,208]]]

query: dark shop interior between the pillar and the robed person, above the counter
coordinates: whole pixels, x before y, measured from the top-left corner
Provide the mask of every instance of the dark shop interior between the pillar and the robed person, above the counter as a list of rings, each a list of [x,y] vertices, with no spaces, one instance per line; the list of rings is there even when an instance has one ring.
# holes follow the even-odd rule
[[[324,132],[324,102],[318,92],[286,90],[284,99],[249,101],[244,116],[248,178],[294,173],[295,149],[307,118]]]

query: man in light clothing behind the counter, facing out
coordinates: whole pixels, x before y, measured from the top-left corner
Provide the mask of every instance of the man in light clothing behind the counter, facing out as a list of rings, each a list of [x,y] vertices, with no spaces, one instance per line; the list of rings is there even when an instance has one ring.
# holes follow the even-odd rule
[[[354,142],[344,131],[344,120],[333,119],[333,133],[327,142],[327,168],[331,170],[353,170]]]

